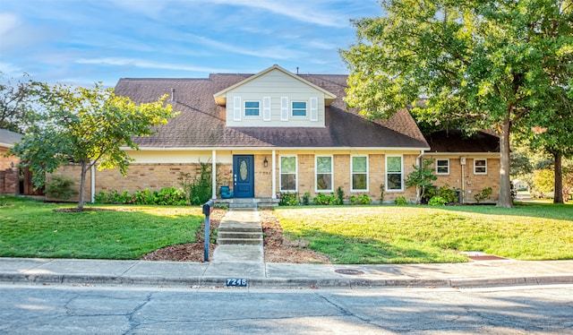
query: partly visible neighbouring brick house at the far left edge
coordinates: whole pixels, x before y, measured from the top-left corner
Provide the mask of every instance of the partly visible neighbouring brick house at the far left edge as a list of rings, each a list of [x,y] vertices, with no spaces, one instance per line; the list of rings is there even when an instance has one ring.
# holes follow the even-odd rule
[[[5,157],[8,150],[20,139],[20,133],[0,129],[0,194],[20,193],[20,171],[16,168],[20,159],[13,156]]]

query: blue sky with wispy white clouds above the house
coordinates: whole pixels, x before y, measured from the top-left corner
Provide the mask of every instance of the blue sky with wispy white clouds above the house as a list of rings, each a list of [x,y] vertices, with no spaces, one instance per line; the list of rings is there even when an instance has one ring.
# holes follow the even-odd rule
[[[0,72],[115,86],[119,78],[347,73],[350,19],[376,0],[0,0]]]

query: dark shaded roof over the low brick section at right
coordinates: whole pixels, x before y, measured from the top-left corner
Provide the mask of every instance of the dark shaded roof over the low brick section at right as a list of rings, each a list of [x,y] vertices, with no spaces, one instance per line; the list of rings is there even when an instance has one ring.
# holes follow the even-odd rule
[[[458,130],[447,130],[426,136],[429,152],[500,152],[500,138],[492,133],[478,132],[471,137]]]

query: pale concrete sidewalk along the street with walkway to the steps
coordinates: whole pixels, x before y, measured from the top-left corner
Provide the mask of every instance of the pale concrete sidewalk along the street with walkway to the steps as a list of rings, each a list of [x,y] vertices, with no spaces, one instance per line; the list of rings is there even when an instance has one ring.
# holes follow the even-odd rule
[[[257,211],[230,210],[221,224],[260,224]],[[218,245],[211,262],[0,258],[0,282],[251,288],[492,287],[573,284],[573,260],[445,264],[266,263],[261,245]]]

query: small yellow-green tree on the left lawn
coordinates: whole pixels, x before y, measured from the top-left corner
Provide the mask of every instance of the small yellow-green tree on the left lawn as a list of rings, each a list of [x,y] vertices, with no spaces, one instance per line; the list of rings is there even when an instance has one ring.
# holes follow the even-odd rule
[[[149,136],[151,126],[167,124],[174,117],[167,94],[156,101],[136,105],[116,96],[113,89],[96,84],[93,89],[47,83],[34,85],[36,122],[11,149],[30,168],[36,187],[68,163],[81,167],[80,200],[84,204],[85,177],[91,167],[119,168],[125,175],[130,159],[122,147],[138,150],[133,136]]]

